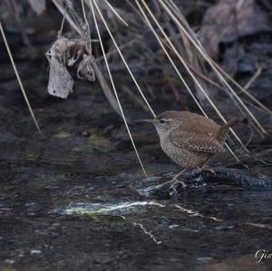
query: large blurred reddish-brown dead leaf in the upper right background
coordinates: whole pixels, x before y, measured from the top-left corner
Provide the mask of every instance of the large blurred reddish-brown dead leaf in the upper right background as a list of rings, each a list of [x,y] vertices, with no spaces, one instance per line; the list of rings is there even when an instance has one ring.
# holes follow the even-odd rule
[[[209,56],[217,58],[220,43],[271,30],[267,13],[255,0],[221,0],[206,12],[200,40]]]

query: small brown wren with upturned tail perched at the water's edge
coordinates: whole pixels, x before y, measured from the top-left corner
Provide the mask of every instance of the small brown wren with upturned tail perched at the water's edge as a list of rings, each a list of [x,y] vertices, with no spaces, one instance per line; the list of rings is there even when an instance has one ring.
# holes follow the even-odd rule
[[[189,111],[164,111],[153,120],[160,137],[161,149],[184,168],[173,180],[189,168],[207,169],[206,162],[223,147],[229,128],[237,118],[220,126],[215,121]],[[211,169],[208,169],[212,171]]]

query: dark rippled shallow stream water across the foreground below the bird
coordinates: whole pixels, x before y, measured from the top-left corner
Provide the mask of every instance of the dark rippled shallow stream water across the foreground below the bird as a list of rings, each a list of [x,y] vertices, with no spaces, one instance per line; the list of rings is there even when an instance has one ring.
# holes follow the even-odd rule
[[[0,270],[272,266],[255,258],[272,247],[271,191],[212,185],[158,200],[137,189],[170,179],[171,165],[150,164],[148,178],[132,166],[110,176],[31,164],[2,168]]]

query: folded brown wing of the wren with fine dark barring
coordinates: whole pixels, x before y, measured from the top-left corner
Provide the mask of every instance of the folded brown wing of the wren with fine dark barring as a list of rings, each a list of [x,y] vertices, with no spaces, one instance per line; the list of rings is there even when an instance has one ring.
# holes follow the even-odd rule
[[[177,147],[207,153],[226,151],[219,141],[209,132],[170,131],[170,142]]]

